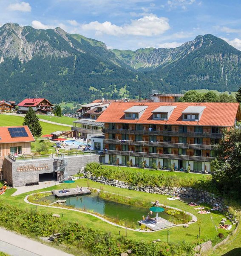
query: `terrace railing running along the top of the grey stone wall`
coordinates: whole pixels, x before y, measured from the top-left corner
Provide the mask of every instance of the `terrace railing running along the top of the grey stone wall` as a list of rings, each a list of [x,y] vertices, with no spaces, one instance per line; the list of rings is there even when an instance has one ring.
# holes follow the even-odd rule
[[[21,157],[15,157],[15,161],[17,160],[34,160],[34,159],[46,159],[46,158],[56,158],[60,156],[64,157],[74,157],[74,156],[84,156],[90,154],[98,154],[96,150],[91,151],[77,151],[77,152],[70,152],[70,153],[60,153],[60,154],[45,154],[45,155],[23,155]]]

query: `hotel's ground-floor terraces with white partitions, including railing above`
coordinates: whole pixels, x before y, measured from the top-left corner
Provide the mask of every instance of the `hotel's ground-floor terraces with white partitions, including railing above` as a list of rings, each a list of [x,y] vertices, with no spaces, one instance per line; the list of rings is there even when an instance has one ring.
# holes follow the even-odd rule
[[[105,157],[103,157],[102,163],[111,165],[128,166],[129,163],[130,166],[141,167],[144,162],[145,167],[150,168],[155,163],[158,169],[170,170],[173,167],[176,171],[186,171],[190,166],[191,172],[212,172],[212,167],[210,166],[211,157],[114,150],[104,150],[103,153]]]

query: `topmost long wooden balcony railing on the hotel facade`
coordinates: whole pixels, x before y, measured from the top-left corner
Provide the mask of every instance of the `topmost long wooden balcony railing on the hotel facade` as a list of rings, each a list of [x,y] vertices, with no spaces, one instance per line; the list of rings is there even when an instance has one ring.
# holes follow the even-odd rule
[[[199,137],[199,138],[222,138],[220,133],[204,133],[204,132],[179,132],[179,131],[149,131],[149,130],[129,130],[129,129],[104,129],[104,133],[110,134],[135,134],[135,135],[161,135],[176,137]]]

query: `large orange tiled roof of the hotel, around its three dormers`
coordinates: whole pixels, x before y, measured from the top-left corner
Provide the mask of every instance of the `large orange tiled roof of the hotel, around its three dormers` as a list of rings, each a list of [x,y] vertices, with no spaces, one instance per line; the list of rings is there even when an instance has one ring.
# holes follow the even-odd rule
[[[124,112],[132,106],[148,106],[139,119],[125,119]],[[152,111],[160,106],[176,106],[168,120],[153,120]],[[182,111],[189,106],[205,106],[199,121],[183,121]],[[238,112],[239,111],[239,112]],[[165,103],[165,102],[113,102],[99,116],[97,122],[136,123],[136,124],[167,124],[167,125],[207,125],[233,126],[235,117],[240,118],[239,103]]]

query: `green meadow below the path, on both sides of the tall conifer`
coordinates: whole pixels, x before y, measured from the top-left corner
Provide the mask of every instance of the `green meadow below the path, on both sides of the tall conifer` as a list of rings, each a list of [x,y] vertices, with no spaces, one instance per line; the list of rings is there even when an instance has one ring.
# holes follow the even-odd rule
[[[0,115],[0,126],[14,126],[23,125],[22,116],[14,115]],[[43,128],[43,134],[50,134],[54,131],[68,131],[70,127],[64,125],[53,125],[46,122],[41,122],[40,125]]]

